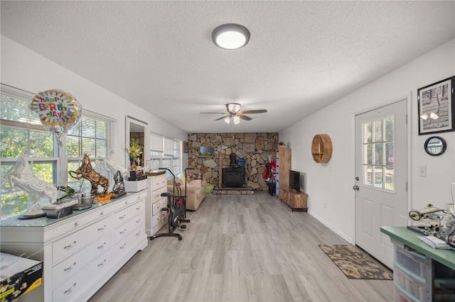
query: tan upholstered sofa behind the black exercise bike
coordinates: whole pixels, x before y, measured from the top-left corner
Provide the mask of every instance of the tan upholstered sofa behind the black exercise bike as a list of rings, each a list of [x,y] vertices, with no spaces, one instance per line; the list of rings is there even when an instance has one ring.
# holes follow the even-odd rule
[[[185,181],[187,181],[186,191]],[[185,176],[181,173],[176,175],[176,182],[181,184],[182,195],[186,195],[186,209],[196,211],[205,197],[207,181],[202,174],[187,173]],[[168,177],[168,191],[173,191],[173,177]],[[177,191],[175,194],[178,194]]]

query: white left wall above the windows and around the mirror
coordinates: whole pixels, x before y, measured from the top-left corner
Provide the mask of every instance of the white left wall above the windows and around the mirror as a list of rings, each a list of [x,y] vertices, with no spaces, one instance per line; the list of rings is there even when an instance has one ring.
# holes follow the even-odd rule
[[[71,58],[68,57],[68,60]],[[125,116],[127,115],[148,123],[149,131],[178,140],[188,140],[185,131],[162,121],[128,100],[55,64],[4,35],[1,35],[0,82],[33,93],[48,89],[68,91],[81,104],[82,110],[93,111],[117,120],[113,144],[117,150],[126,148]],[[186,159],[183,161],[183,167],[187,166]]]

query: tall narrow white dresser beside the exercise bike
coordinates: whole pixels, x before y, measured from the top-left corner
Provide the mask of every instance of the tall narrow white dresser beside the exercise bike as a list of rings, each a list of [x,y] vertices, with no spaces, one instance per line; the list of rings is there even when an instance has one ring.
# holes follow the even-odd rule
[[[168,200],[161,193],[168,191],[166,174],[159,174],[147,178],[149,181],[149,194],[146,201],[146,227],[147,237],[155,235],[167,223],[168,212],[161,211],[166,208]]]

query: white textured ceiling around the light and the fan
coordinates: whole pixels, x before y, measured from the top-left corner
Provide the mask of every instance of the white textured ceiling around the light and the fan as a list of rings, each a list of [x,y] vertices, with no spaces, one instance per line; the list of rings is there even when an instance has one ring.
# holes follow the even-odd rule
[[[223,23],[250,43],[213,45]],[[454,32],[454,1],[1,1],[2,35],[188,133],[277,132]],[[233,101],[268,113],[200,113]]]

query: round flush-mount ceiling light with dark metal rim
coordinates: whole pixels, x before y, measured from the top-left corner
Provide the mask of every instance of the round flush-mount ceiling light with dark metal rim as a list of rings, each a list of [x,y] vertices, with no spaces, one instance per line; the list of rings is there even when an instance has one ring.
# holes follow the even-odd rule
[[[236,50],[247,45],[250,40],[250,30],[239,24],[223,24],[213,30],[212,40],[220,48]]]

